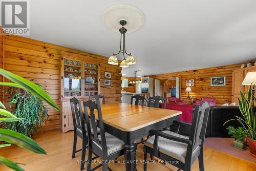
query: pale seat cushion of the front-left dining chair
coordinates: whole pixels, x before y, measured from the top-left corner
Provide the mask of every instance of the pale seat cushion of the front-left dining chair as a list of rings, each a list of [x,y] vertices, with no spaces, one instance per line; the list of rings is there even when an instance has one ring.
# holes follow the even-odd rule
[[[98,135],[98,138],[101,141],[100,135]],[[106,138],[106,148],[108,149],[108,156],[124,148],[124,142],[116,138],[114,135],[105,133],[105,138]]]

